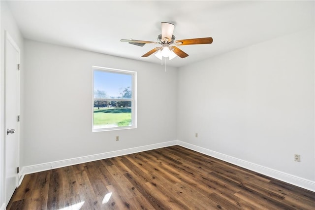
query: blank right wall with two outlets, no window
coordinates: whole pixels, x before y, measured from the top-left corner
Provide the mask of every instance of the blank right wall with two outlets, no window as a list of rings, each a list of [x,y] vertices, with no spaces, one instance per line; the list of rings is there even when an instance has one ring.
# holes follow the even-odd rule
[[[180,68],[178,140],[315,183],[314,39],[313,28]]]

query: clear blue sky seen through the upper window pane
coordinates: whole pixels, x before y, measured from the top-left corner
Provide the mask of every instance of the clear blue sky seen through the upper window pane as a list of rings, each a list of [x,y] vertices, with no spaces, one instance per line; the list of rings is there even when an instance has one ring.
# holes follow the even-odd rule
[[[132,75],[94,71],[94,91],[104,91],[106,98],[119,98],[122,97],[121,93],[125,88],[131,88]]]

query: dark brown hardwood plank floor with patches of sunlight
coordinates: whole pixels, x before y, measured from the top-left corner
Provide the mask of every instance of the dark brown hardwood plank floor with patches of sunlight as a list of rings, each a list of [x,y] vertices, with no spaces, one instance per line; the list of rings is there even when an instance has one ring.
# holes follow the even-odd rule
[[[314,210],[315,192],[171,146],[25,175],[7,209]]]

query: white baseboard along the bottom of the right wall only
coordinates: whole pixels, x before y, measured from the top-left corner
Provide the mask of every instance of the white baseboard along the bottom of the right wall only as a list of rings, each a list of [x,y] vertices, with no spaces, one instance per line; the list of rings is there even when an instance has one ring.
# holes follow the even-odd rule
[[[278,180],[281,180],[281,181],[284,181],[284,182],[287,182],[287,183],[290,183],[290,184],[293,184],[293,185],[296,185],[296,186],[302,187],[304,189],[311,190],[311,191],[315,192],[315,181],[301,178],[301,177],[298,177],[295,175],[286,174],[284,172],[280,172],[280,171],[277,171],[274,169],[260,166],[260,165],[257,165],[257,164],[254,164],[254,163],[251,163],[251,162],[248,162],[245,160],[241,160],[241,159],[229,156],[229,155],[222,154],[220,152],[215,152],[213,150],[206,149],[206,148],[196,146],[196,145],[193,145],[190,143],[186,143],[183,141],[178,141],[178,145],[186,147],[186,148],[194,150],[194,151],[197,151],[197,152],[200,152],[200,153],[203,153],[205,155],[209,155],[211,157],[218,158],[218,159],[226,161],[228,163],[249,169],[249,170],[257,172],[259,174],[267,175],[267,176],[270,176],[272,178],[276,178]]]

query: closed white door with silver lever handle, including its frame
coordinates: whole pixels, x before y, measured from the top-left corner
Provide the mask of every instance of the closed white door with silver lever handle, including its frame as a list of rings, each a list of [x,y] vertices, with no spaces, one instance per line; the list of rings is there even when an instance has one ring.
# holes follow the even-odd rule
[[[18,186],[17,167],[19,166],[19,70],[20,49],[11,36],[5,33],[4,58],[4,170],[6,204]]]

